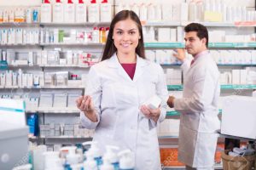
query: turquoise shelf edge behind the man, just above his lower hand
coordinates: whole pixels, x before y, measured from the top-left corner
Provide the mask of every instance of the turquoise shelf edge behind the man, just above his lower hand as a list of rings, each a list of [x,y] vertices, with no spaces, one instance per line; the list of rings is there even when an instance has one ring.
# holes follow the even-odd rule
[[[222,84],[221,89],[256,89],[256,85],[245,84],[245,85],[232,85],[232,84]],[[183,90],[183,85],[167,85],[168,91],[181,91]]]

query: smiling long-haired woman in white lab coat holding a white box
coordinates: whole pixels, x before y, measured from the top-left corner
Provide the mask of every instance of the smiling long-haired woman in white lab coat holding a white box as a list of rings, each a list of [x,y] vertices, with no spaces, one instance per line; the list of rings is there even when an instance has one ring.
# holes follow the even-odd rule
[[[137,14],[123,10],[113,18],[102,62],[89,71],[84,96],[77,99],[84,127],[96,129],[93,140],[130,149],[137,170],[160,169],[156,126],[165,119],[168,92],[160,65],[145,59]],[[143,105],[157,95],[156,109]]]

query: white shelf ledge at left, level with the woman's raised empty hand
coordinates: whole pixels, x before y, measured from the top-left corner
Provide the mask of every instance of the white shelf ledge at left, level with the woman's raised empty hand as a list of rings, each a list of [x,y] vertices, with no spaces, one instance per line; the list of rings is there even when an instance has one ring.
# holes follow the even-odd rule
[[[48,107],[48,108],[38,108],[34,110],[26,110],[26,113],[52,113],[52,114],[79,114],[80,111],[76,108],[55,108],[55,107]]]

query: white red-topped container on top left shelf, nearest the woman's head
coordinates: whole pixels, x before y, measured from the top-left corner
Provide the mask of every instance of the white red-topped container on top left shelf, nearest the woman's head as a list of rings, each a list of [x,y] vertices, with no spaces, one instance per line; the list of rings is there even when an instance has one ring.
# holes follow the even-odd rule
[[[101,22],[110,22],[112,20],[111,4],[108,0],[103,0],[101,4]]]

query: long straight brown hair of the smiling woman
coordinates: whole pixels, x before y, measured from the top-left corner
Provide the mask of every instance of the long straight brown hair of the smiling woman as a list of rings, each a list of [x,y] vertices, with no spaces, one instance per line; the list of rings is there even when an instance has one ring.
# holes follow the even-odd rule
[[[138,54],[139,57],[145,59],[145,49],[144,49],[144,42],[143,42],[143,28],[141,21],[139,20],[137,14],[131,10],[122,10],[118,14],[116,14],[113,17],[113,20],[111,21],[109,32],[108,32],[108,38],[107,42],[102,54],[102,60],[109,59],[111,56],[117,51],[117,48],[113,44],[113,27],[117,22],[120,20],[127,20],[131,19],[137,24],[137,28],[139,30],[141,38],[139,39],[137,48],[135,50],[136,54]]]

